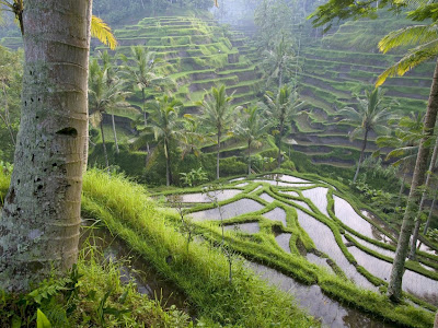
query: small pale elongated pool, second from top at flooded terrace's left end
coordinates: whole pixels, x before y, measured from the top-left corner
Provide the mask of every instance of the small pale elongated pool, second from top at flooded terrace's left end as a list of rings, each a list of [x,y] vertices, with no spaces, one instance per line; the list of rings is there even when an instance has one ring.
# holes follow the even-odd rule
[[[222,219],[226,220],[241,214],[260,211],[263,209],[263,206],[255,200],[243,198],[238,201],[222,206],[220,207],[220,209],[222,212]],[[221,219],[219,208],[194,212],[191,213],[189,216],[192,216],[194,221]]]

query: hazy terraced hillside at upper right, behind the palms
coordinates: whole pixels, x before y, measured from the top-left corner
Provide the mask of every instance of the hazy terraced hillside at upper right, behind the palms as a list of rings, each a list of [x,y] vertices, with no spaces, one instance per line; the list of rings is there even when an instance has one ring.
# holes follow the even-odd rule
[[[406,21],[383,17],[376,21],[348,22],[324,38],[303,38],[299,92],[308,103],[307,113],[296,121],[290,136],[297,151],[314,163],[351,166],[358,159],[361,140],[348,139],[349,126],[338,125],[337,112],[355,104],[355,95],[372,89],[377,77],[400,56],[377,54],[377,43],[389,31]],[[424,112],[429,94],[433,62],[422,65],[403,78],[389,79],[385,103],[404,114]],[[370,136],[367,152],[377,150]],[[383,154],[388,150],[383,150]]]

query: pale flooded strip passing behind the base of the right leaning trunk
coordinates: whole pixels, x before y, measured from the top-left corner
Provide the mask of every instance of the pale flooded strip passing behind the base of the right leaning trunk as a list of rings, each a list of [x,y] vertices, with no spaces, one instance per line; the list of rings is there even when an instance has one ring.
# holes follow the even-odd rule
[[[355,246],[349,247],[348,251],[371,274],[384,281],[390,281],[392,263],[378,259]],[[419,298],[438,305],[438,281],[434,279],[406,270],[403,274],[402,288]]]

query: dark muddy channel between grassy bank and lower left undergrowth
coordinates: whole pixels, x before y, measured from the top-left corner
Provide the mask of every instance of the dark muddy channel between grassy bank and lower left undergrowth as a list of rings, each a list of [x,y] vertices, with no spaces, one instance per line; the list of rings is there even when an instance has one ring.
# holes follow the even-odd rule
[[[91,235],[91,237],[90,237]],[[93,237],[94,236],[94,237]],[[120,281],[128,283],[134,280],[140,294],[161,301],[165,307],[175,305],[178,309],[195,314],[188,306],[187,298],[177,288],[165,281],[151,265],[140,259],[139,256],[119,238],[114,237],[105,229],[83,229],[79,248],[87,247],[87,241],[95,246],[106,259],[123,261],[120,267]]]

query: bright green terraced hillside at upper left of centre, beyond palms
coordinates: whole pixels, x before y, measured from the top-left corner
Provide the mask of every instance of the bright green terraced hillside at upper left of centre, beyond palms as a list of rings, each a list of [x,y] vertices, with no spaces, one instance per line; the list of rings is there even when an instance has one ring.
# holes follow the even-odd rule
[[[128,58],[130,46],[143,45],[162,59],[159,72],[175,82],[174,96],[186,113],[196,112],[195,103],[211,86],[224,84],[233,103],[244,105],[254,101],[261,83],[255,66],[233,47],[223,28],[212,20],[189,16],[146,17],[136,25],[116,30],[117,54]],[[103,50],[97,46],[95,50]],[[149,96],[155,92],[149,90]],[[131,98],[140,102],[140,94]]]

